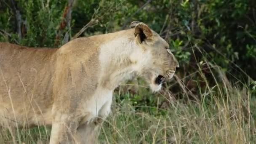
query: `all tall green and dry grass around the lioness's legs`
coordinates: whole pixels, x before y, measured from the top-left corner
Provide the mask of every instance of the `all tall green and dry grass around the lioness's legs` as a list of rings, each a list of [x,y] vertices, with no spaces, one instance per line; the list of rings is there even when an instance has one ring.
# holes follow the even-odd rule
[[[211,84],[204,77],[204,86],[189,91],[181,79],[176,81],[182,99],[172,99],[163,90],[152,94],[139,84],[136,94],[121,86],[115,92],[112,113],[99,132],[104,144],[256,144],[256,96],[251,87],[231,85],[219,70],[212,68]],[[199,82],[195,81],[196,83]],[[169,85],[170,86],[170,85]],[[138,85],[137,85],[138,87]],[[164,94],[163,94],[164,93]],[[193,100],[189,96],[196,97]],[[163,102],[165,102],[163,104]],[[160,106],[162,103],[162,106]],[[19,130],[20,140],[8,130],[0,132],[0,144],[13,141],[48,143],[50,128]]]

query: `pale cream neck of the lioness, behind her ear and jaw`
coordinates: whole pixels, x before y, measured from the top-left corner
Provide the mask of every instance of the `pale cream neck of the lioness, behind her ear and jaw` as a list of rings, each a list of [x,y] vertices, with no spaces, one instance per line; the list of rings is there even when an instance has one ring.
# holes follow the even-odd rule
[[[140,69],[138,58],[142,53],[142,49],[130,37],[119,37],[101,45],[99,84],[114,90],[120,83],[138,75]]]

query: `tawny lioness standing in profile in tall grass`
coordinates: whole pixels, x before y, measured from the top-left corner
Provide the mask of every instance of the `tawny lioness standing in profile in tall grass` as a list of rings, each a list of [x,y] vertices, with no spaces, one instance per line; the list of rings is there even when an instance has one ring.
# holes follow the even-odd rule
[[[141,76],[159,91],[176,67],[168,43],[138,21],[58,49],[0,43],[0,125],[50,125],[50,144],[94,143],[120,83]]]

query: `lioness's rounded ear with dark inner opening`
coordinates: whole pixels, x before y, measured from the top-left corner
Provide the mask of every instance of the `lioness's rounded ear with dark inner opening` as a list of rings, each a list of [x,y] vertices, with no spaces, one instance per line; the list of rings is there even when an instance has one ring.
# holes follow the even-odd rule
[[[153,35],[151,29],[147,26],[147,24],[144,24],[142,22],[133,21],[130,27],[135,27],[134,34],[139,43],[142,43],[146,39],[150,39]]]

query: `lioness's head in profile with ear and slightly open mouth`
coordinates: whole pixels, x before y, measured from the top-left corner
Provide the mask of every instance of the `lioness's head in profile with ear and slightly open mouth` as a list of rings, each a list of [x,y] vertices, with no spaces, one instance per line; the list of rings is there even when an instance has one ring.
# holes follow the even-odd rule
[[[150,59],[139,72],[149,83],[152,91],[159,91],[164,80],[173,77],[179,63],[169,49],[169,44],[146,24],[133,21],[135,43],[148,53]]]

